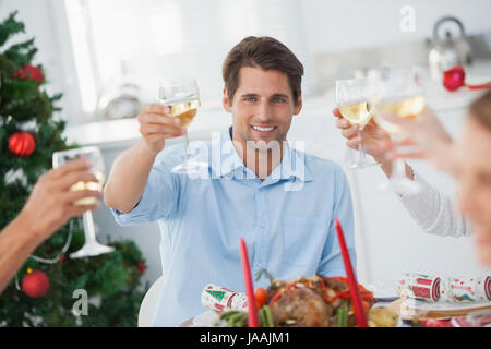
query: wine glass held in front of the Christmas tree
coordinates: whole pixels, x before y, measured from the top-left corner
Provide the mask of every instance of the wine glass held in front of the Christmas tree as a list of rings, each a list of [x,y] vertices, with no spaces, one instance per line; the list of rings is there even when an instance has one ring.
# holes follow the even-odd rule
[[[105,181],[105,166],[100,149],[96,146],[75,148],[52,154],[52,167],[58,168],[67,161],[84,157],[91,165],[91,172],[95,174],[98,182],[77,182],[71,186],[71,190],[93,190],[103,191]],[[92,205],[96,202],[95,197],[86,197],[75,202],[75,205]],[[94,218],[92,212],[83,214],[85,243],[79,251],[70,254],[71,258],[96,256],[103,253],[115,251],[115,248],[100,244],[96,240],[94,229]]]

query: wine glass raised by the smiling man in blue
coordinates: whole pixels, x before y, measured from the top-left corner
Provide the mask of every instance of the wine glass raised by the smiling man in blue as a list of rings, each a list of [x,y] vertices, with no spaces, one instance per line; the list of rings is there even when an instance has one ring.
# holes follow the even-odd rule
[[[170,117],[181,120],[180,127],[188,128],[201,106],[197,83],[192,77],[163,81],[158,85],[158,99],[170,108]],[[196,174],[208,164],[192,159],[188,153],[189,137],[185,133],[185,161],[172,168],[172,173]]]

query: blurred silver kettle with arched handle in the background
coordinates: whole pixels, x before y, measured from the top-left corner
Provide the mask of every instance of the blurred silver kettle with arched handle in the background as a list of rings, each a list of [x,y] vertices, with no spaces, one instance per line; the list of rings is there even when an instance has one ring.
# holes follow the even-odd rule
[[[453,37],[451,32],[445,32],[445,37],[440,37],[440,27],[444,23],[455,23],[459,31],[459,37]],[[444,71],[456,65],[468,67],[472,63],[470,45],[465,39],[465,31],[462,22],[453,16],[440,19],[433,27],[433,41],[429,55],[430,73],[432,79],[442,80]]]

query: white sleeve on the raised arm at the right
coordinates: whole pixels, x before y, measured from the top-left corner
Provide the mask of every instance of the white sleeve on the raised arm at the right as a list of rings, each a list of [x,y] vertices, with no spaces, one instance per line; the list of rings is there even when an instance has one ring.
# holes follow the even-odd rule
[[[397,195],[416,222],[428,233],[441,237],[470,236],[471,228],[451,198],[428,184],[416,171],[415,181],[421,185],[417,193]]]

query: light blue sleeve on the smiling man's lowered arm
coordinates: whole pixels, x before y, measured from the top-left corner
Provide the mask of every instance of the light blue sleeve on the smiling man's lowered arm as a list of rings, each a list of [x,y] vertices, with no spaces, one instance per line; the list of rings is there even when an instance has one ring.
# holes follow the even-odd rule
[[[328,226],[327,241],[323,251],[323,258],[318,267],[318,274],[326,277],[344,276],[346,277],[343,255],[337,241],[336,227],[334,225],[337,218],[343,227],[346,246],[348,248],[352,269],[357,270],[357,254],[355,250],[355,226],[351,192],[348,180],[339,167],[336,167],[334,189],[333,216]]]

